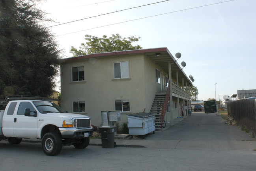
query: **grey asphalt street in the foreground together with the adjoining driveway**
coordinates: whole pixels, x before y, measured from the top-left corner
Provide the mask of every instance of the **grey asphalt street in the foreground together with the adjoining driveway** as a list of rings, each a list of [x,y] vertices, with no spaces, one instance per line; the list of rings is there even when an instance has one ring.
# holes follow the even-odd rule
[[[120,140],[121,141],[121,140]],[[163,132],[134,140],[146,148],[89,145],[63,147],[46,156],[39,142],[11,145],[0,142],[0,171],[27,170],[223,170],[256,168],[256,142],[239,127],[225,125],[220,116],[194,112]]]

